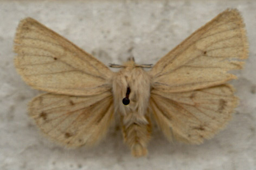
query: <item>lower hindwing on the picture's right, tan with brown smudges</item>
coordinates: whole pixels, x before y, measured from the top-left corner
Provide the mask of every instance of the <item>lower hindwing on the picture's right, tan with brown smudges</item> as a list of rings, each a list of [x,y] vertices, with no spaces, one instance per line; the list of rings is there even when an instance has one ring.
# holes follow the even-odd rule
[[[230,85],[183,93],[151,91],[150,107],[168,139],[172,135],[187,143],[202,143],[222,129],[238,99]]]

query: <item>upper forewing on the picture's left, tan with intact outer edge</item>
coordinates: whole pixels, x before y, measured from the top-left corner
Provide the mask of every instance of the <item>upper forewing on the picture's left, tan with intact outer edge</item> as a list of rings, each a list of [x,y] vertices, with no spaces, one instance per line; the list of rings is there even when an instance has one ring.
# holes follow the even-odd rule
[[[94,95],[111,88],[110,69],[35,19],[20,22],[14,42],[15,67],[35,89]]]

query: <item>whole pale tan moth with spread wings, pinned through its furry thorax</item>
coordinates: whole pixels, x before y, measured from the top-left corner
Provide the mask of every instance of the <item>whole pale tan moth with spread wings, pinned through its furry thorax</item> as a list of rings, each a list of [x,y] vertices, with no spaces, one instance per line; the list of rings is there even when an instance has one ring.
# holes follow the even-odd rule
[[[196,30],[154,66],[132,57],[113,72],[33,18],[18,24],[15,67],[29,86],[47,91],[29,103],[29,115],[56,143],[90,146],[120,116],[134,156],[148,153],[155,121],[169,140],[200,144],[231,119],[238,98],[228,71],[248,56],[245,24],[227,9]],[[144,68],[151,69],[145,71]]]

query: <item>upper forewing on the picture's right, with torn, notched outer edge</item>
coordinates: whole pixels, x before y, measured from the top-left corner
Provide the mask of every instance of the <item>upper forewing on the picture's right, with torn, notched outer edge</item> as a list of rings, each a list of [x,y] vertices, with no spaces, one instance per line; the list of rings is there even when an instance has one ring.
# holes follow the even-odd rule
[[[166,92],[190,91],[223,84],[236,76],[247,58],[245,25],[238,10],[226,10],[195,31],[150,70],[152,86]]]

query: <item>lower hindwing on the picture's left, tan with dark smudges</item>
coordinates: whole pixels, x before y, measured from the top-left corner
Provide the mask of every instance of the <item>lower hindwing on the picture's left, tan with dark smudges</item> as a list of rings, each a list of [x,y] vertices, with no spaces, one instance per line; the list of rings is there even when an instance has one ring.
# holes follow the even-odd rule
[[[63,146],[94,145],[106,134],[113,118],[112,94],[42,94],[29,103],[29,115],[44,135]]]

